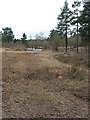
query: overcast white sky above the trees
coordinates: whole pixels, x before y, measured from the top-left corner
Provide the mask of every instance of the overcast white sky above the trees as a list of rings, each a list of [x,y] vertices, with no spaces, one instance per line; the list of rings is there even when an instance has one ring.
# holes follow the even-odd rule
[[[0,0],[0,31],[11,27],[16,38],[39,32],[49,34],[57,26],[57,16],[65,0]],[[71,8],[74,0],[67,0]]]

